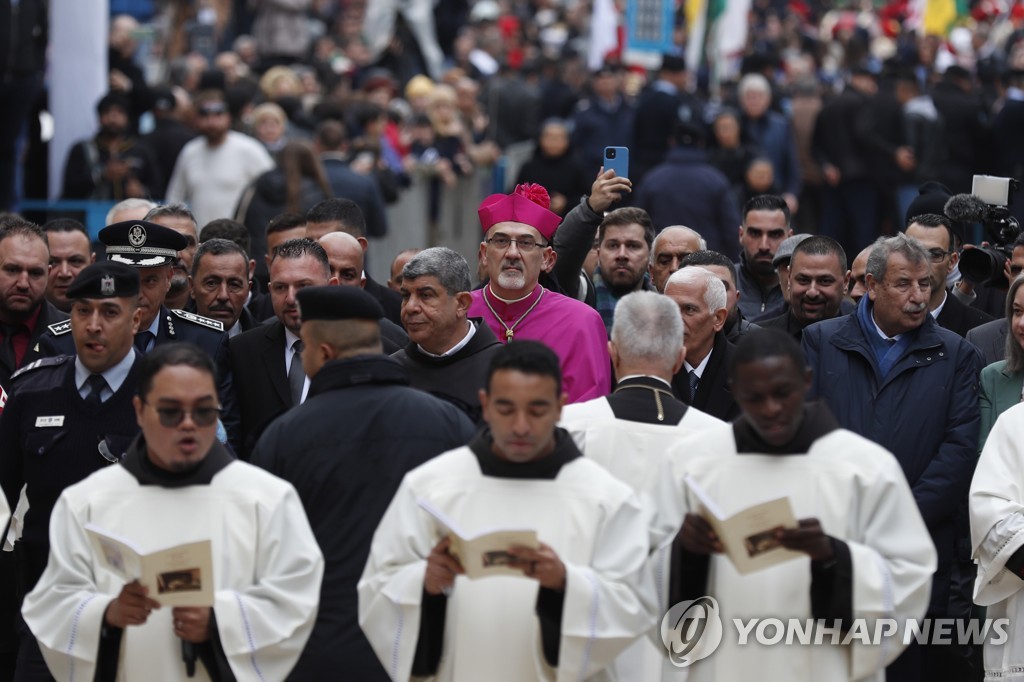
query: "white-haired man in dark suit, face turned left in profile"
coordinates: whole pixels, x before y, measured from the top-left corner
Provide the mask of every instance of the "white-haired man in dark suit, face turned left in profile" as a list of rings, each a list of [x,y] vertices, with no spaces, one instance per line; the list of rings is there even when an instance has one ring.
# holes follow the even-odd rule
[[[700,267],[684,267],[669,278],[665,295],[679,306],[686,329],[683,367],[672,388],[683,402],[730,421],[739,414],[726,383],[735,346],[725,338],[729,309],[725,285]]]

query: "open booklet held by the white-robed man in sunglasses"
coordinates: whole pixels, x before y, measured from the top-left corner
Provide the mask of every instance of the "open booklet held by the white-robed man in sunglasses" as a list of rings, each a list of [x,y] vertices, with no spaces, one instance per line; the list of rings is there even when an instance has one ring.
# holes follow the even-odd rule
[[[213,606],[210,541],[143,552],[131,541],[92,523],[85,525],[99,563],[130,583],[138,580],[161,606]]]

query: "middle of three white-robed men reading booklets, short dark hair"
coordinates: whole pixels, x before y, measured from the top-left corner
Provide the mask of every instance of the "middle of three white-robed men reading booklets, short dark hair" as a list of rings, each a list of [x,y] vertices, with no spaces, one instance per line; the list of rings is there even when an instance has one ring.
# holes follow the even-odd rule
[[[605,668],[655,622],[643,570],[649,513],[625,483],[556,429],[558,357],[503,346],[481,391],[484,429],[407,474],[359,581],[359,624],[394,680],[613,679]],[[536,529],[508,548],[521,574],[469,580],[447,529]]]

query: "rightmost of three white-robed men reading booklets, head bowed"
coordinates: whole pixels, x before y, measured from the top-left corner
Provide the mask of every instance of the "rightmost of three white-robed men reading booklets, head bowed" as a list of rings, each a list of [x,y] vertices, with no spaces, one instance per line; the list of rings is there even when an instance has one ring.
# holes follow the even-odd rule
[[[786,334],[744,336],[732,378],[742,415],[679,445],[685,473],[727,517],[787,498],[799,526],[774,540],[798,556],[740,574],[688,488],[674,598],[710,595],[725,624],[721,645],[689,668],[689,680],[881,682],[905,645],[901,632],[877,638],[876,623],[923,617],[936,566],[906,478],[892,454],[839,428],[824,406],[804,403],[810,370]],[[769,645],[751,633],[739,645],[734,619],[838,622],[839,641],[824,631],[818,644]]]

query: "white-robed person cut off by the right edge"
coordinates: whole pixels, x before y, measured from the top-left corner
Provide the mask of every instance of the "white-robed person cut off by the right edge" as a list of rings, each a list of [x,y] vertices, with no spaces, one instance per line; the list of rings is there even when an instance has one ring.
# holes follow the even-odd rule
[[[971,481],[971,544],[978,577],[974,602],[989,619],[1009,619],[1005,643],[985,643],[986,679],[1024,680],[1024,404],[989,432]]]

